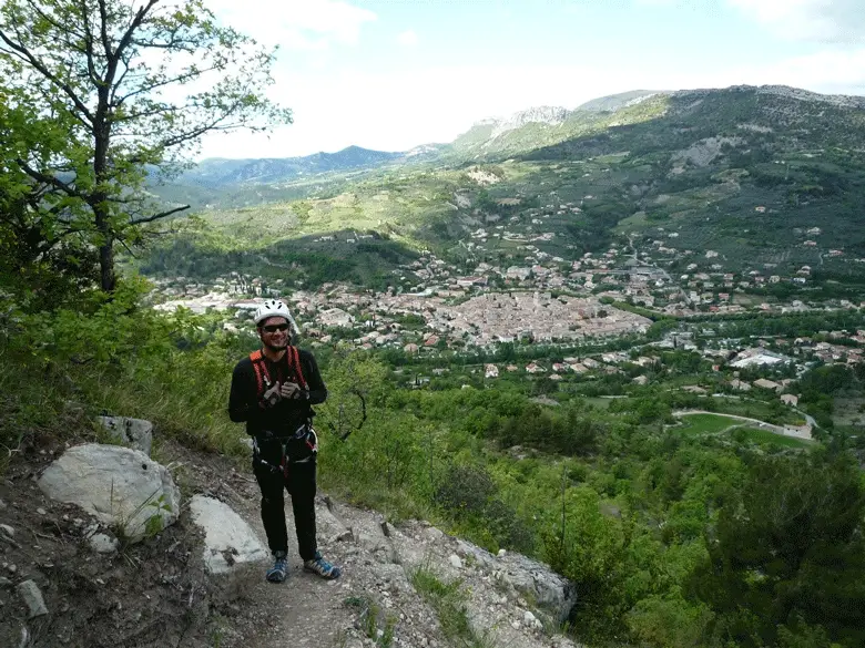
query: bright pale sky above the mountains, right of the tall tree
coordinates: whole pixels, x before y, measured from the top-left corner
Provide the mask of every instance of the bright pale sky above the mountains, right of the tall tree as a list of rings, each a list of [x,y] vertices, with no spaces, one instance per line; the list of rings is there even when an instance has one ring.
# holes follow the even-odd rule
[[[294,123],[200,157],[407,151],[486,117],[629,90],[784,84],[865,95],[865,0],[205,0],[278,45]]]

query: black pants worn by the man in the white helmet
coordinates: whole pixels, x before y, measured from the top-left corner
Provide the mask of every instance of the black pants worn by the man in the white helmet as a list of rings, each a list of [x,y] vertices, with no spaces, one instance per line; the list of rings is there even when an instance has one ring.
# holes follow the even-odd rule
[[[304,463],[292,463],[288,474],[283,476],[271,466],[279,465],[282,446],[278,441],[262,444],[261,455],[267,464],[253,457],[253,472],[262,491],[262,523],[267,534],[271,552],[287,552],[288,532],[285,524],[285,500],[283,488],[292,496],[294,526],[301,558],[315,557],[315,456]]]

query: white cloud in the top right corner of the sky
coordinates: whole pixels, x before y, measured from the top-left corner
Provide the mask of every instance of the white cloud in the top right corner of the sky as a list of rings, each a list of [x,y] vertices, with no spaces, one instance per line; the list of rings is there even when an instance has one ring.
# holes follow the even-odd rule
[[[863,0],[727,0],[790,40],[865,42]]]

